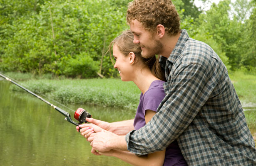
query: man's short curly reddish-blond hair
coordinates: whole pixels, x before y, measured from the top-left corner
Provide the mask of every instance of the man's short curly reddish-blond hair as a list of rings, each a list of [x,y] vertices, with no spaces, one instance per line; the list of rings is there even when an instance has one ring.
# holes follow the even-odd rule
[[[162,24],[168,34],[180,32],[179,15],[171,0],[134,0],[129,2],[126,15],[127,23],[138,20],[151,32]]]

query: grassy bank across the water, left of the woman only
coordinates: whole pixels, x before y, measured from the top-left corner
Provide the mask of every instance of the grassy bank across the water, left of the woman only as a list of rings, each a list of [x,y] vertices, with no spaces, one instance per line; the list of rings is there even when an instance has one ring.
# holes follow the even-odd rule
[[[80,103],[136,110],[140,90],[133,82],[120,79],[30,79],[22,85],[61,103]],[[12,90],[23,91],[12,85]],[[46,99],[47,100],[47,99]]]

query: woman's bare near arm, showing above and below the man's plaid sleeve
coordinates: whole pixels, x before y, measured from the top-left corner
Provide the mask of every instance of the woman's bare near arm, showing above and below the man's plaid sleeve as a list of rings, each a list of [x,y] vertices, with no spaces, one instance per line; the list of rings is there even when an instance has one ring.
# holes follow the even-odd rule
[[[152,110],[146,110],[145,113],[145,122],[149,122],[151,118],[156,114]],[[105,156],[114,156],[117,157],[129,164],[134,166],[162,166],[164,164],[165,150],[157,151],[152,154],[147,154],[144,156],[136,156],[135,154],[129,151],[119,151],[119,150],[110,150],[108,152],[99,152],[99,154]]]

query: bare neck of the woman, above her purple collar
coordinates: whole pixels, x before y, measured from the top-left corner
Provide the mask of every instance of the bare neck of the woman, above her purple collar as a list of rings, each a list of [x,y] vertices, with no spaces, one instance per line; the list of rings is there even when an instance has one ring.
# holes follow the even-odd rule
[[[138,69],[135,74],[133,82],[143,94],[149,89],[153,81],[159,80],[151,73],[149,68]]]

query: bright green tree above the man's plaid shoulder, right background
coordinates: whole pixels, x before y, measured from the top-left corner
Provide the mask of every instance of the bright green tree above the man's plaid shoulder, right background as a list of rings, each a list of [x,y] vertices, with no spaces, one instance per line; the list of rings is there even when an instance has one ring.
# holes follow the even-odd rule
[[[231,1],[220,1],[212,4],[211,9],[199,17],[199,29],[211,35],[221,46],[221,51],[229,58],[231,70],[241,66],[242,56],[248,50],[245,24],[236,17],[230,17]]]

